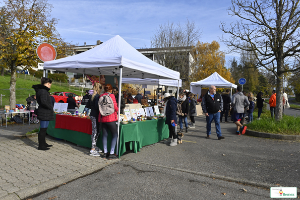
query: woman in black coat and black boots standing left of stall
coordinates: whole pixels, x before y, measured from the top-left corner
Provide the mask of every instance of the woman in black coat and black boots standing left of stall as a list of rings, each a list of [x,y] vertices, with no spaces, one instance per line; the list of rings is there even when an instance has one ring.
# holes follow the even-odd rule
[[[43,77],[40,85],[33,85],[35,90],[36,101],[38,108],[35,110],[37,119],[40,119],[40,130],[38,133],[38,150],[49,150],[47,147],[52,147],[46,143],[46,132],[50,120],[54,120],[53,107],[49,95],[52,81],[49,78]]]

